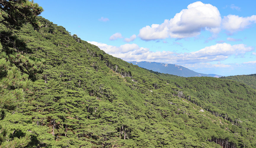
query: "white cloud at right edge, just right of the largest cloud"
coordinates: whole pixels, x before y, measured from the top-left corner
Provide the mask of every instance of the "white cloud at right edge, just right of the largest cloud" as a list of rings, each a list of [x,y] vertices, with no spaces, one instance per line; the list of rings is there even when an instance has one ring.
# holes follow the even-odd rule
[[[238,15],[224,16],[222,20],[222,27],[230,33],[241,31],[249,28],[250,25],[256,23],[256,15],[250,17],[239,17]]]

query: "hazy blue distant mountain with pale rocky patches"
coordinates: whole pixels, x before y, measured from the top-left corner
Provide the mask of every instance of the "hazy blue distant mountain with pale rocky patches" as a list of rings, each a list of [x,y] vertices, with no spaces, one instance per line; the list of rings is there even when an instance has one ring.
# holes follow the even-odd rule
[[[148,70],[157,71],[159,73],[168,73],[172,75],[182,76],[182,77],[221,77],[221,75],[216,74],[204,74],[204,73],[197,73],[193,70],[190,70],[186,67],[175,65],[175,64],[166,64],[166,63],[158,63],[158,62],[136,62],[132,61],[129,62],[133,65],[138,65],[140,67],[146,68]]]

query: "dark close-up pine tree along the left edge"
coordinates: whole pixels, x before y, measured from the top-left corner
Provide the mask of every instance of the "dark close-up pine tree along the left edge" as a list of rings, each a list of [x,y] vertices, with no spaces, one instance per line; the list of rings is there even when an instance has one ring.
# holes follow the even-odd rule
[[[0,1],[0,116],[4,119],[7,112],[13,111],[24,99],[24,92],[29,92],[31,79],[35,80],[43,70],[43,60],[27,55],[31,50],[23,39],[15,33],[26,22],[39,27],[36,16],[43,9],[33,1]],[[4,26],[3,26],[4,25]],[[3,123],[1,123],[3,124]],[[30,134],[16,137],[2,125],[0,147],[25,147],[31,140]],[[7,133],[12,135],[8,137]]]

